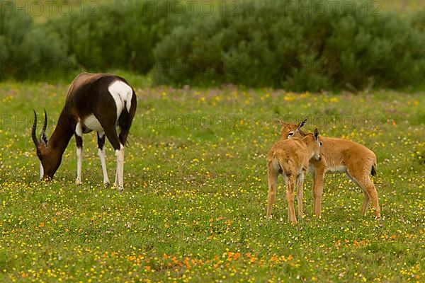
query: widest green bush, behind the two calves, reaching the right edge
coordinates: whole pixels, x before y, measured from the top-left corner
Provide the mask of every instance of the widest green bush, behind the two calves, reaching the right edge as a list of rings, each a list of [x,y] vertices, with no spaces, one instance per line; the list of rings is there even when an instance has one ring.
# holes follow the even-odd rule
[[[397,88],[424,77],[424,32],[409,19],[373,15],[360,3],[355,13],[328,6],[322,14],[288,8],[294,3],[245,1],[238,16],[216,13],[176,27],[154,51],[155,80],[318,91]],[[314,7],[323,1],[296,3]]]

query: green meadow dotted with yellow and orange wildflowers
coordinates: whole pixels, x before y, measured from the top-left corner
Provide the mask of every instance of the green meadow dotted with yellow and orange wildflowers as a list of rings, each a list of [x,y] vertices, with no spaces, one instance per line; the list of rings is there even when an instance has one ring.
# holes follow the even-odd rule
[[[0,84],[1,282],[424,282],[424,93],[135,87],[120,193],[101,185],[93,133],[83,185],[74,139],[40,183],[32,110],[46,108],[50,135],[67,85]],[[363,194],[344,175],[327,175],[322,219],[310,176],[300,224],[286,221],[282,187],[265,219],[276,120],[305,116],[307,129],[375,151],[382,219],[360,216]]]

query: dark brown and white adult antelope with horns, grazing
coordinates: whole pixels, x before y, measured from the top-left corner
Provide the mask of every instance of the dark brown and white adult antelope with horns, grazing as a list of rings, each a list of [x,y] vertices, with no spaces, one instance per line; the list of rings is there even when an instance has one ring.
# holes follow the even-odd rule
[[[50,139],[45,133],[47,114],[40,141],[35,136],[37,114],[34,111],[33,141],[40,159],[40,178],[53,178],[62,154],[74,134],[77,142],[77,185],[81,184],[82,135],[97,132],[98,156],[101,159],[103,183],[108,184],[105,162],[105,137],[117,156],[115,185],[123,190],[124,146],[136,112],[136,94],[125,79],[112,74],[79,74],[69,87],[64,108]],[[117,127],[120,129],[117,134]]]

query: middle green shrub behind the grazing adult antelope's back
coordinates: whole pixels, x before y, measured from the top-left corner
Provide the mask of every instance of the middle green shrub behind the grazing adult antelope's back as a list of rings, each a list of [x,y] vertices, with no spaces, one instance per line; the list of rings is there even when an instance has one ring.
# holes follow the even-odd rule
[[[111,68],[147,73],[154,64],[154,45],[179,25],[181,18],[152,5],[172,1],[114,1],[96,13],[74,13],[51,25],[81,66],[101,71]]]

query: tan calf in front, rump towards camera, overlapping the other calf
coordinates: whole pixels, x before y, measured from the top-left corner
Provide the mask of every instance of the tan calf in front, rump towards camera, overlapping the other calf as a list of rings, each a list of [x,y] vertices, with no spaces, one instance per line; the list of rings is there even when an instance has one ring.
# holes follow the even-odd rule
[[[307,134],[302,139],[280,140],[267,154],[268,196],[267,216],[271,217],[271,208],[278,187],[278,175],[283,174],[286,183],[288,201],[288,221],[297,223],[294,209],[294,187],[297,185],[298,216],[302,219],[302,184],[310,159],[320,160],[319,131]]]

